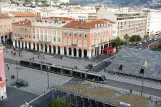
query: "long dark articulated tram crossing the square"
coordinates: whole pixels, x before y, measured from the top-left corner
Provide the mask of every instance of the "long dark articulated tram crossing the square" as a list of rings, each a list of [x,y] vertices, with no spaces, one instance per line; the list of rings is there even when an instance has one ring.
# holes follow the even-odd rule
[[[21,66],[30,67],[33,69],[38,69],[46,72],[61,74],[65,76],[71,76],[80,79],[86,79],[94,82],[106,82],[106,78],[100,74],[94,74],[88,71],[80,71],[76,68],[66,67],[61,65],[54,65],[51,63],[38,62],[34,60],[21,60]]]

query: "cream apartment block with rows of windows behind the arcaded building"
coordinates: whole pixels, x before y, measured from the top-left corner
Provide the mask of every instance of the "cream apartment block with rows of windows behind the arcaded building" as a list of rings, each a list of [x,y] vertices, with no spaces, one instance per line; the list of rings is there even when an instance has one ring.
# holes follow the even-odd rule
[[[116,35],[122,39],[128,34],[140,35],[144,37],[146,35],[147,15],[146,13],[128,12],[128,13],[108,13],[104,15],[104,18],[113,20],[116,22]]]

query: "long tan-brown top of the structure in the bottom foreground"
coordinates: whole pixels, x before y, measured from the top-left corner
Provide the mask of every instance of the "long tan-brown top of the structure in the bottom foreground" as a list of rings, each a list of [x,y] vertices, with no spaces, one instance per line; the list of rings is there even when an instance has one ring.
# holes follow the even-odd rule
[[[57,86],[57,89],[117,106],[121,106],[120,102],[129,104],[130,107],[148,107],[149,105],[148,98],[128,92],[120,93],[105,87],[95,87],[91,84],[64,84]]]

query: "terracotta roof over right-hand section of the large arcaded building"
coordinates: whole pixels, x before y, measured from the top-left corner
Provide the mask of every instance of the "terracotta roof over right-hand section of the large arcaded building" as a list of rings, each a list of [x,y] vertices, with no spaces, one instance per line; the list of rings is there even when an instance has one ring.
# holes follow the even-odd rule
[[[95,25],[101,25],[101,24],[112,24],[109,20],[101,19],[91,22],[79,22],[79,21],[72,21],[68,24],[66,24],[65,28],[80,28],[80,29],[90,29],[95,28]]]

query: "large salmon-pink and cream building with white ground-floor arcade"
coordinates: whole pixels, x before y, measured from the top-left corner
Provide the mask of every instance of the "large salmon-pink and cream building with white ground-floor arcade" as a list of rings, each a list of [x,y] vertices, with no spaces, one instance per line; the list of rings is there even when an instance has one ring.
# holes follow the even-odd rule
[[[12,24],[13,46],[91,58],[109,46],[113,23],[108,19],[83,22],[67,17],[24,20]]]

